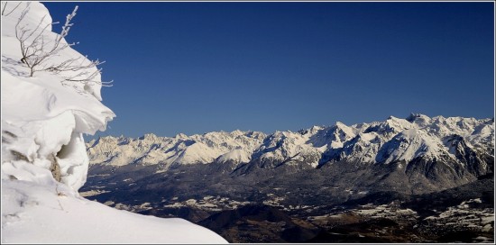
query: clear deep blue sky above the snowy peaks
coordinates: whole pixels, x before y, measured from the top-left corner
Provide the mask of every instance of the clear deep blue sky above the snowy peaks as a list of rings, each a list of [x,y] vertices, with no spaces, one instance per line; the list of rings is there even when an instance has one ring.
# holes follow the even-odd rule
[[[492,3],[44,5],[115,81],[96,136],[493,117]]]

